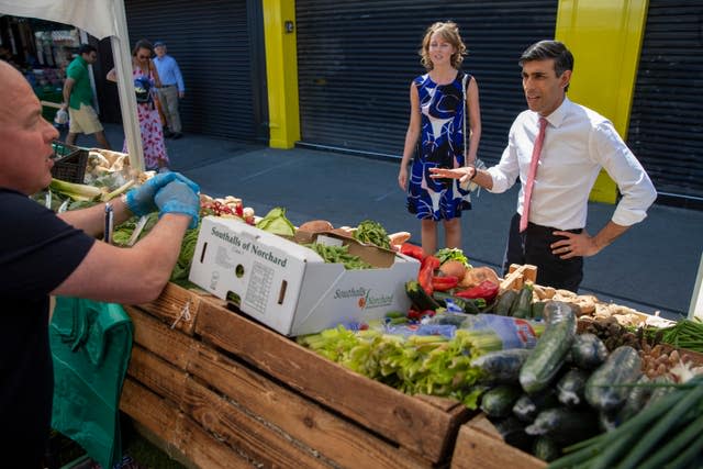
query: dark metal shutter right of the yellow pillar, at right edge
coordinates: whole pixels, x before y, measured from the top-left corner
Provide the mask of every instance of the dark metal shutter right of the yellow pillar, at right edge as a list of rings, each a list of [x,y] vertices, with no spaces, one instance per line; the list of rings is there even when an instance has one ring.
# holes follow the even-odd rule
[[[650,0],[627,144],[660,199],[703,206],[703,2]]]

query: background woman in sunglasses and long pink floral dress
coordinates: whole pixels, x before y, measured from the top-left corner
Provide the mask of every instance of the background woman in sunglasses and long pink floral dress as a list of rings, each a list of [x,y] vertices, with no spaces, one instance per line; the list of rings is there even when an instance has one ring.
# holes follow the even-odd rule
[[[132,51],[132,77],[136,92],[136,111],[142,131],[142,146],[144,149],[144,165],[146,169],[168,169],[168,155],[164,141],[164,127],[158,115],[156,89],[161,83],[158,71],[152,62],[154,47],[146,40],[141,40]],[[108,79],[118,81],[114,68],[108,72]],[[122,152],[126,153],[126,141]]]

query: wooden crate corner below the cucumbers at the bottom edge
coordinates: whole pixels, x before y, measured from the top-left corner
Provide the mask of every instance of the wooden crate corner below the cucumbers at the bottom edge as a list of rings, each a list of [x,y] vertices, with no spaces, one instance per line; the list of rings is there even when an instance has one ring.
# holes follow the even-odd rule
[[[486,415],[462,425],[451,457],[451,469],[544,469],[547,464],[507,445]]]

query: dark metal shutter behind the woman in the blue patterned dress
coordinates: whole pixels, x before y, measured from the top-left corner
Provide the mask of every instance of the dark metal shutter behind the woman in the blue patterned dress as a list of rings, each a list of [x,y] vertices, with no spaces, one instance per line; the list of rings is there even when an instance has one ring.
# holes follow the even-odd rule
[[[553,38],[557,1],[298,0],[302,145],[401,157],[410,82],[424,72],[426,27],[454,20],[469,49],[464,69],[479,85],[479,156],[496,161],[526,108],[517,59]]]

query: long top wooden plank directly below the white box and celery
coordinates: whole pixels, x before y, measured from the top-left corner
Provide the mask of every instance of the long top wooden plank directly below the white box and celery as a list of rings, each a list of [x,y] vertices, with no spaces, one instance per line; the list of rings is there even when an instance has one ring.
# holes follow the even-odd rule
[[[458,426],[469,415],[468,409],[443,412],[357,375],[208,300],[202,302],[196,333],[433,462],[448,458]]]

